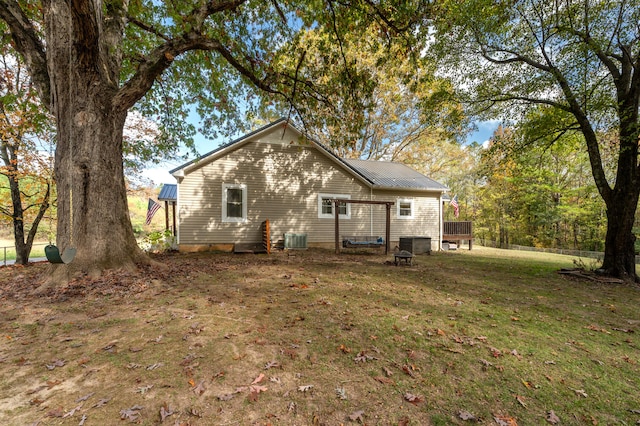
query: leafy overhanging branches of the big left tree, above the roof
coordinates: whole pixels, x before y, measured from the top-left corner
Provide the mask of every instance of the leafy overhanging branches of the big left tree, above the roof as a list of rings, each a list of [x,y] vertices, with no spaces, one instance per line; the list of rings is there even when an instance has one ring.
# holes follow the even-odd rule
[[[211,138],[245,131],[275,111],[309,128],[339,127],[343,132],[333,136],[345,143],[361,134],[366,112],[375,106],[376,67],[405,61],[406,53],[391,46],[411,43],[420,7],[250,0],[200,22],[188,3],[143,1],[128,11],[145,26],[126,27],[121,78],[134,76],[140,58],[164,39],[180,39],[197,27],[219,47],[175,57],[136,105],[159,123],[160,144],[175,147],[180,140],[193,148],[190,111],[203,117],[197,130]]]

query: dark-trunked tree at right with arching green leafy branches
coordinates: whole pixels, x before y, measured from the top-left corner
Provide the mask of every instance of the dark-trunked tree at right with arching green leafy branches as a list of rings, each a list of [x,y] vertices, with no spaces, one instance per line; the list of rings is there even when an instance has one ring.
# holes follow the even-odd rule
[[[636,278],[640,4],[473,0],[438,7],[430,52],[475,116],[521,124],[532,109],[553,109],[545,114],[554,118],[553,127],[539,128],[536,137],[580,132],[607,208],[603,270]],[[615,168],[609,174],[603,150],[612,135]]]

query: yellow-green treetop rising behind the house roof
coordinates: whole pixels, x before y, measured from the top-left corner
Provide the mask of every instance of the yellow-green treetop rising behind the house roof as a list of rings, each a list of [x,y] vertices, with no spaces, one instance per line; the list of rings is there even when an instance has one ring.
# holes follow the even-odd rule
[[[425,139],[460,138],[467,122],[449,81],[434,75],[428,59],[402,43],[383,43],[380,34],[376,23],[339,40],[321,28],[300,34],[280,65],[314,81],[328,101],[297,106],[307,133],[342,156],[388,160]],[[295,60],[301,55],[304,63]],[[342,75],[333,73],[343,62]]]

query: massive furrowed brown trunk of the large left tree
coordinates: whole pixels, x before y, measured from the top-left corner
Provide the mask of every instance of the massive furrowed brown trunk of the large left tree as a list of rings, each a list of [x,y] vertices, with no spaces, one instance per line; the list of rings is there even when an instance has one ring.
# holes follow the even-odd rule
[[[75,247],[73,262],[55,265],[52,283],[76,273],[133,268],[149,259],[139,249],[129,218],[122,143],[126,108],[114,104],[117,72],[100,52],[100,20],[92,10],[56,2],[48,8],[47,55],[58,142],[57,245]],[[89,6],[81,3],[80,6]],[[77,6],[77,5],[76,5]],[[94,25],[91,25],[94,24]]]

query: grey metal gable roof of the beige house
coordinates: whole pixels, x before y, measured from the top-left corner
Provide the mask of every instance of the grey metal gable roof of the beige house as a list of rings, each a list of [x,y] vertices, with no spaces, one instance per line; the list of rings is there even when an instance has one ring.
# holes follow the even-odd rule
[[[225,155],[227,151],[236,149],[242,144],[248,142],[255,136],[273,131],[274,128],[276,128],[278,125],[288,126],[298,134],[300,134],[300,136],[303,135],[300,130],[289,123],[285,118],[281,118],[277,121],[274,121],[273,123],[260,127],[259,129],[254,130],[251,133],[241,136],[240,138],[234,139],[227,144],[221,145],[220,147],[200,156],[195,160],[178,166],[175,169],[170,170],[169,173],[177,178],[184,173],[188,173],[192,167],[197,167],[198,165],[206,164],[210,161],[213,161],[214,159]],[[320,142],[313,139],[308,139],[308,141],[316,148],[318,148],[318,151],[337,163],[338,166],[340,166],[371,188],[437,192],[444,192],[449,189],[441,183],[428,178],[422,173],[419,173],[402,163],[340,158],[331,149],[321,144]]]

